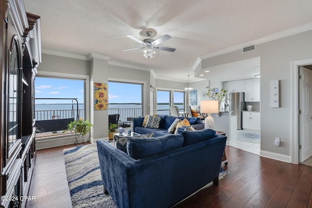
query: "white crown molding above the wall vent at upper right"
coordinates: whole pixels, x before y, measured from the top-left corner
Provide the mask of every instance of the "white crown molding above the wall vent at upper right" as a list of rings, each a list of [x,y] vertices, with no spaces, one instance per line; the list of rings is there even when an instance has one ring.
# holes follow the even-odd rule
[[[250,45],[257,45],[257,44],[269,42],[269,41],[272,41],[272,40],[276,40],[276,39],[279,39],[279,38],[285,38],[287,36],[292,36],[292,35],[295,35],[295,34],[298,34],[298,33],[302,33],[302,32],[306,32],[306,31],[309,31],[309,30],[312,30],[312,23],[304,24],[304,25],[301,25],[301,26],[298,26],[298,27],[295,27],[295,28],[292,28],[292,29],[288,29],[288,30],[284,30],[282,32],[274,33],[274,34],[272,34],[270,36],[265,36],[263,38],[258,38],[258,39],[251,40],[251,41],[248,41],[248,42],[245,42],[245,43],[242,43],[242,44],[234,45],[234,46],[229,47],[229,48],[221,49],[219,51],[215,51],[213,53],[200,56],[199,58],[201,60],[203,60],[203,59],[206,59],[206,58],[216,57],[216,56],[219,56],[219,55],[222,55],[222,54],[226,54],[226,53],[230,53],[230,52],[233,52],[233,51],[241,50],[242,48],[250,46]]]

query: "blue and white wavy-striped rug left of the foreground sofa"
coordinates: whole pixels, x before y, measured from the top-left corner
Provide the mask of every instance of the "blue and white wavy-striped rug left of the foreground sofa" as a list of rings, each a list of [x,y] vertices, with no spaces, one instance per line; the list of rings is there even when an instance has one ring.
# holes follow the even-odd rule
[[[63,152],[73,208],[117,208],[103,192],[97,145],[81,145]]]

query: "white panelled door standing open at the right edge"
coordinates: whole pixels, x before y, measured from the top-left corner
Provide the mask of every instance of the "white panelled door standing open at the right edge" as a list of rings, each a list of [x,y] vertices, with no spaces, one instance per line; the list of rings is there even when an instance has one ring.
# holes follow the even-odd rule
[[[312,70],[299,67],[299,162],[312,156]]]

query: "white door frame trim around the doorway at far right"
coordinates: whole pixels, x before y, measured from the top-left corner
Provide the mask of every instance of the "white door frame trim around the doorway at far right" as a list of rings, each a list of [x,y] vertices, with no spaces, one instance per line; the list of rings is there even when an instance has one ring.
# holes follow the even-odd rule
[[[291,62],[291,163],[299,163],[299,66],[312,65],[312,58]]]

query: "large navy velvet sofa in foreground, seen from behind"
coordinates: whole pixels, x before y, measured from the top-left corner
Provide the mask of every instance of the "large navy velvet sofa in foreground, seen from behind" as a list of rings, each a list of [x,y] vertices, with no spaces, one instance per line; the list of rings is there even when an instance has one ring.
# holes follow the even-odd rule
[[[97,141],[104,192],[118,208],[169,208],[218,175],[226,136],[214,130],[129,138],[127,153]]]

